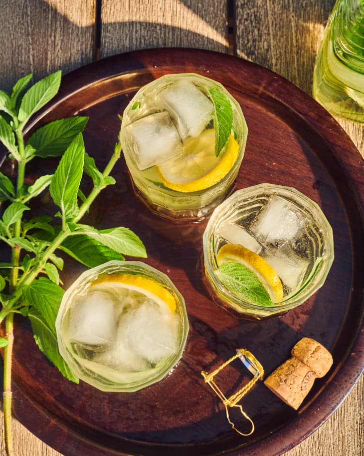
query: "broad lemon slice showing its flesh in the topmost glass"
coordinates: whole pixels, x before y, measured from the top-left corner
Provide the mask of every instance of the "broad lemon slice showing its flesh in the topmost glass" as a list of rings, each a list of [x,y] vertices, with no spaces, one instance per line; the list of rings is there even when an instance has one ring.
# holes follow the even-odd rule
[[[196,192],[216,184],[233,167],[239,145],[230,135],[227,145],[216,157],[215,130],[203,131],[184,146],[183,154],[158,165],[163,184],[178,192]]]

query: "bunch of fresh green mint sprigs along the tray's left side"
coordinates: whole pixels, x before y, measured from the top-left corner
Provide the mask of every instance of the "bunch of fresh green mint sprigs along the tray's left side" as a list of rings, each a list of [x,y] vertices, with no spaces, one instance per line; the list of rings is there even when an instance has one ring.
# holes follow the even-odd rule
[[[50,74],[27,90],[32,75],[19,79],[11,93],[0,90],[0,142],[8,158],[17,162],[17,176],[11,180],[0,173],[0,241],[7,246],[11,261],[0,263],[0,324],[5,322],[3,410],[5,446],[14,454],[11,432],[11,358],[14,314],[30,320],[39,349],[69,380],[77,377],[58,351],[55,318],[63,296],[59,271],[63,259],[58,251],[68,253],[86,266],[93,267],[123,255],[146,257],[139,237],[125,227],[97,230],[81,222],[99,193],[115,184],[110,173],[120,157],[118,142],[104,170],[86,151],[82,137],[88,118],[74,116],[48,123],[34,131],[28,141],[24,130],[31,116],[57,93],[61,73]],[[61,156],[53,174],[39,176],[27,185],[25,167],[35,157]],[[41,167],[38,167],[41,169]],[[93,187],[88,195],[80,189],[84,175]],[[53,217],[28,214],[28,202],[49,191],[58,206]],[[57,217],[59,217],[57,219]],[[54,218],[54,220],[53,220]],[[61,223],[56,223],[57,220]]]

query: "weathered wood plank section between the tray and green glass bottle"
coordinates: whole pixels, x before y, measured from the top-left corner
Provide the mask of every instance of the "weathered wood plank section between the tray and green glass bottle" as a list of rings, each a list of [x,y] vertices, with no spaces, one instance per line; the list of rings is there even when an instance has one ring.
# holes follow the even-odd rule
[[[334,0],[236,0],[236,54],[286,77],[306,92]]]

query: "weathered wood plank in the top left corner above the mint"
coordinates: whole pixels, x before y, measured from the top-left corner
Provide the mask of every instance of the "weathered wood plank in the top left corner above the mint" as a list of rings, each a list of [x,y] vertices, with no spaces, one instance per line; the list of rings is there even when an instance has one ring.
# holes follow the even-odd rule
[[[0,88],[33,73],[34,81],[94,58],[95,0],[2,0]]]

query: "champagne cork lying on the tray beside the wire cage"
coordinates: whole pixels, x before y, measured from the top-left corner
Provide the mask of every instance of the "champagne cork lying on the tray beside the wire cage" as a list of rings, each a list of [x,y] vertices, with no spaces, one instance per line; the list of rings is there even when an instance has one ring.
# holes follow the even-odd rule
[[[324,377],[333,364],[331,353],[314,339],[304,337],[292,349],[292,358],[264,382],[275,395],[297,410],[315,379]]]

